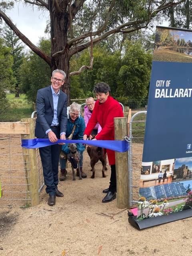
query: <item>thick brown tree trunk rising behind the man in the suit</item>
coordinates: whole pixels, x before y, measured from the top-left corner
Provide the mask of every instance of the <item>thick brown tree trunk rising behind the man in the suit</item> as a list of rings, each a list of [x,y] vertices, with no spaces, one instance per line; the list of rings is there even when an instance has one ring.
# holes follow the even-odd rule
[[[54,5],[54,1],[49,0],[48,5],[51,26],[51,56],[53,56],[54,53],[66,48],[70,16],[68,12],[63,11],[65,8],[62,8],[62,4],[60,4],[59,10]],[[66,73],[65,83],[62,86],[62,90],[68,95],[68,105],[70,104],[69,60],[70,56],[67,48],[65,54],[60,54],[58,57],[52,58],[51,60],[52,71],[58,68],[64,70]]]

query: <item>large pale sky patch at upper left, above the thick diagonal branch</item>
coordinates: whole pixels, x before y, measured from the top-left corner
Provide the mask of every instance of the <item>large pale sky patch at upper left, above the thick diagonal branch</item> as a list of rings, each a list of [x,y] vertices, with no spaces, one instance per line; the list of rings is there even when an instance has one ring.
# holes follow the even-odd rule
[[[33,44],[37,45],[40,37],[45,36],[48,11],[42,13],[37,6],[32,8],[29,4],[26,6],[22,2],[15,2],[14,8],[6,11],[6,15]]]

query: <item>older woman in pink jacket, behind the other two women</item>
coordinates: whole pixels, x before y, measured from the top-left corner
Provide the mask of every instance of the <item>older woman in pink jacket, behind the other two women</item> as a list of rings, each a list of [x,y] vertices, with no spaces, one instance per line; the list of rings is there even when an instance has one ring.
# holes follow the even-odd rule
[[[85,120],[85,126],[87,126],[92,112],[94,110],[94,106],[95,106],[95,101],[94,98],[89,97],[86,99],[85,101],[86,106],[84,106],[84,120]],[[96,124],[96,126],[94,127],[94,129],[92,130],[91,135],[97,135],[100,131],[101,131],[101,126],[99,123]]]

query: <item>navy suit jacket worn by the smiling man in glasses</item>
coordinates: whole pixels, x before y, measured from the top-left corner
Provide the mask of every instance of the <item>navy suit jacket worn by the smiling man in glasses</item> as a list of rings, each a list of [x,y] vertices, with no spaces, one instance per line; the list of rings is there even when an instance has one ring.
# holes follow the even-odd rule
[[[57,108],[60,132],[66,132],[67,129],[67,99],[67,95],[60,90]],[[50,129],[54,117],[51,86],[38,90],[36,108],[37,119],[35,126],[35,136],[37,138],[43,138],[46,136],[46,130]]]

